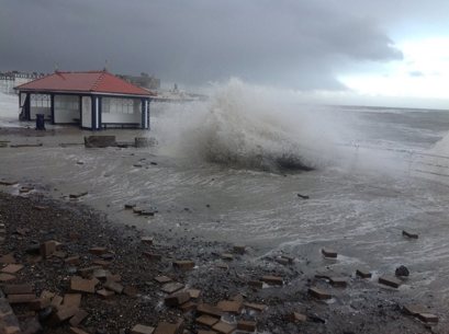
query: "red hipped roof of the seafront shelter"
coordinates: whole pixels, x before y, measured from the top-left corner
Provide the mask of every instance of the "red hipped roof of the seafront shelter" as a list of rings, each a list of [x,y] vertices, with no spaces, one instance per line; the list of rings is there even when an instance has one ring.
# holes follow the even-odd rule
[[[111,93],[124,95],[150,95],[137,85],[106,71],[55,72],[53,74],[18,85],[18,90]]]

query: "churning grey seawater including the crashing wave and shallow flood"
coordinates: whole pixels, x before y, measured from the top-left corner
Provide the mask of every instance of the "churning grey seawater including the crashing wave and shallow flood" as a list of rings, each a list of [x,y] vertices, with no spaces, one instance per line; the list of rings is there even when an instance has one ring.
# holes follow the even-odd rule
[[[150,131],[104,134],[157,145],[89,150],[76,143],[90,133],[74,128],[3,135],[43,147],[0,149],[1,177],[64,200],[88,192],[80,200],[113,222],[244,244],[255,258],[290,254],[310,270],[323,247],[339,254],[333,269],[368,268],[373,281],[405,265],[402,293],[449,303],[449,111],[317,106],[232,80],[207,101],[153,104]]]

